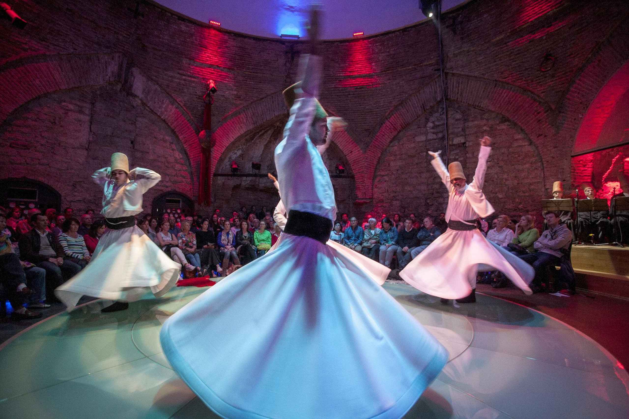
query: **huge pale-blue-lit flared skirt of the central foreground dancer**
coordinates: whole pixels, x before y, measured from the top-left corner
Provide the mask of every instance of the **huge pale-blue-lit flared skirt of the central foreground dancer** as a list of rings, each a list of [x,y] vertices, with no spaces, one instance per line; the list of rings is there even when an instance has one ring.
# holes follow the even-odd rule
[[[160,340],[225,418],[400,418],[447,361],[364,268],[286,233],[172,315]]]

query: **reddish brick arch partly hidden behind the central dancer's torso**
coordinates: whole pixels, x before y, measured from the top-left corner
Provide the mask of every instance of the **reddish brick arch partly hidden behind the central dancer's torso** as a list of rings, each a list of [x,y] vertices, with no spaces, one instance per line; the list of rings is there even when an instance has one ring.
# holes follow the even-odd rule
[[[333,109],[327,110],[330,114],[336,114]],[[211,177],[208,182],[212,182],[218,161],[233,141],[240,138],[240,136],[248,131],[260,126],[260,124],[264,124],[266,121],[275,119],[278,116],[286,115],[286,113],[284,98],[281,92],[276,92],[240,109],[237,114],[234,114],[230,119],[218,126],[212,133],[215,145],[212,149],[210,166]],[[363,173],[361,168],[364,166],[364,154],[362,150],[360,150],[360,147],[353,140],[352,136],[345,131],[337,133],[334,142],[347,157],[355,174],[356,183],[359,183],[359,180],[360,183],[363,183],[365,179],[361,178],[360,174]]]

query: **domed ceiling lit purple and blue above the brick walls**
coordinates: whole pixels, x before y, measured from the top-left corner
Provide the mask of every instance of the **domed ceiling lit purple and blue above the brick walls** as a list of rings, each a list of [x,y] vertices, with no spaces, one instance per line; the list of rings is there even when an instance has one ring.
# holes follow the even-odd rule
[[[443,0],[446,11],[465,0]],[[305,36],[303,19],[308,0],[157,0],[167,8],[202,22],[221,23],[221,28],[268,36]],[[325,16],[323,39],[351,38],[355,31],[371,35],[401,28],[426,17],[418,0],[318,0]]]

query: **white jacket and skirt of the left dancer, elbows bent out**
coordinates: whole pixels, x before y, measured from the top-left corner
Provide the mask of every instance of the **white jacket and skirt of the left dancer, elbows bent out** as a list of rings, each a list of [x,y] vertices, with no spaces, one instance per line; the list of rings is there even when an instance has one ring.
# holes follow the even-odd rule
[[[109,180],[109,168],[97,170],[92,178],[103,187],[105,217],[140,214],[142,195],[157,185],[155,171],[135,168],[125,185]],[[147,291],[161,297],[179,279],[181,265],[170,259],[138,226],[107,229],[99,239],[91,261],[73,278],[58,286],[55,295],[73,310],[83,295],[108,300],[135,301]]]

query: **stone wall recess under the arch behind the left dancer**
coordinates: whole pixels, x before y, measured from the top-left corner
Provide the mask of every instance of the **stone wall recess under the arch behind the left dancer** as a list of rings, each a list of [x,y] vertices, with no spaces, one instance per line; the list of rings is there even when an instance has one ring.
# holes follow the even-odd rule
[[[3,175],[55,188],[62,206],[101,208],[103,191],[91,174],[125,153],[130,167],[157,171],[162,181],[145,194],[144,209],[170,190],[190,195],[191,168],[181,143],[141,102],[111,84],[43,95],[14,112],[0,129]]]

